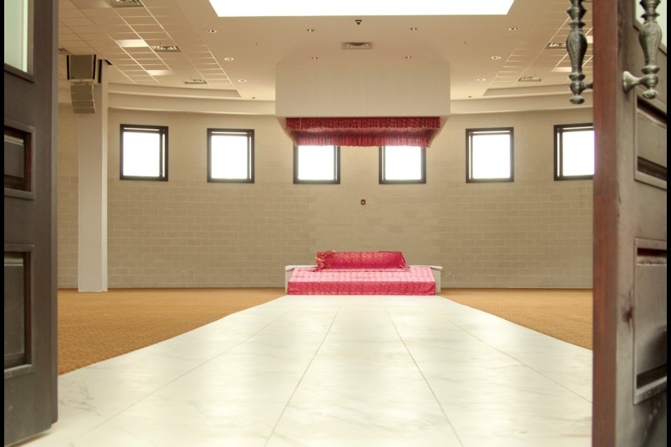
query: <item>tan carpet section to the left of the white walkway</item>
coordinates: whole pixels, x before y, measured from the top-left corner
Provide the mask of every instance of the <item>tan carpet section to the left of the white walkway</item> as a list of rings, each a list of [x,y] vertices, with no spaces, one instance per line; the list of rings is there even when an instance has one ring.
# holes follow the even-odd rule
[[[175,337],[284,295],[284,288],[58,291],[58,373]]]

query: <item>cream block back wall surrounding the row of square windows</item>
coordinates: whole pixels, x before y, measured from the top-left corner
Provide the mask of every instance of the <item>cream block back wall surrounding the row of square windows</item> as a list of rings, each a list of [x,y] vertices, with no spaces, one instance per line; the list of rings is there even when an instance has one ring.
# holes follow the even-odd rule
[[[61,114],[59,287],[69,287],[76,117]],[[272,116],[110,110],[109,119],[110,288],[280,287],[284,265],[321,250],[403,251],[409,263],[442,265],[443,287],[591,287],[592,182],[553,179],[554,124],[591,122],[591,110],[453,115],[426,150],[419,185],[378,184],[372,147],[341,148],[338,185],[294,185],[291,141]],[[168,126],[168,182],[119,179],[122,123]],[[515,181],[466,184],[465,129],[501,126],[514,127]],[[254,129],[254,184],[206,182],[208,127]]]

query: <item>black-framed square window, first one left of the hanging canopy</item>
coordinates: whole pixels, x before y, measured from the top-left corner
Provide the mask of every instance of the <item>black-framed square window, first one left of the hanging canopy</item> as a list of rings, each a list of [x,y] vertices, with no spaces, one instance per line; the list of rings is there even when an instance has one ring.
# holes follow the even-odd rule
[[[208,182],[254,183],[252,129],[208,129]]]

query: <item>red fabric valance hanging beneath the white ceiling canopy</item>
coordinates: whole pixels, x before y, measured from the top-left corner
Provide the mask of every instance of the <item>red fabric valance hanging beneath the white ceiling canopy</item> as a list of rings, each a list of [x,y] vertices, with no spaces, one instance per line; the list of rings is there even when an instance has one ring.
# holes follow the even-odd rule
[[[440,117],[287,118],[285,129],[297,146],[428,147]]]

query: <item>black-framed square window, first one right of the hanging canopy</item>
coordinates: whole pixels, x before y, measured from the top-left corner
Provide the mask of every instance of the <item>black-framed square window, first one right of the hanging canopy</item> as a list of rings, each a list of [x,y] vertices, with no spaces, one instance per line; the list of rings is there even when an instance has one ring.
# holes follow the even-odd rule
[[[466,182],[512,182],[513,130],[466,129]]]

